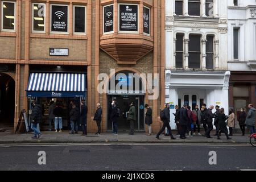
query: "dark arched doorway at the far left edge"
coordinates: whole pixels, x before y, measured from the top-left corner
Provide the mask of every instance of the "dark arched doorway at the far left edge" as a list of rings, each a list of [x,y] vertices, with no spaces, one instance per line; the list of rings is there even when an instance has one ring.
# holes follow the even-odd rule
[[[0,72],[0,127],[13,127],[15,109],[15,81]]]

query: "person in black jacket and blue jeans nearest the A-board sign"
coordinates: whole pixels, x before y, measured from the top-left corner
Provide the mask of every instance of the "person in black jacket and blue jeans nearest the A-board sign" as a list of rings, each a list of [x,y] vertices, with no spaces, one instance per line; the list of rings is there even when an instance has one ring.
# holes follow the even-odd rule
[[[42,135],[40,131],[37,129],[38,124],[42,122],[43,118],[42,107],[39,104],[36,104],[36,102],[34,102],[32,106],[33,109],[31,114],[31,129],[34,130],[34,136],[32,137],[32,139],[38,139]]]

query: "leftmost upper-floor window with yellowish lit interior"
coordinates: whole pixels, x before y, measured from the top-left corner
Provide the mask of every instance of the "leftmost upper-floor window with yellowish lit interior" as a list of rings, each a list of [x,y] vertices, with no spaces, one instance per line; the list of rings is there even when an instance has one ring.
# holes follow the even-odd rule
[[[2,1],[2,30],[15,30],[15,2]]]

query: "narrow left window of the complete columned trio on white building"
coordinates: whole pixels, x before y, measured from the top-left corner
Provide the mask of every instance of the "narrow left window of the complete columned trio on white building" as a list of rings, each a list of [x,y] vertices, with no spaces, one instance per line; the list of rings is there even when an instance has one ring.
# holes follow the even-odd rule
[[[182,34],[176,35],[176,68],[183,68],[183,37]]]

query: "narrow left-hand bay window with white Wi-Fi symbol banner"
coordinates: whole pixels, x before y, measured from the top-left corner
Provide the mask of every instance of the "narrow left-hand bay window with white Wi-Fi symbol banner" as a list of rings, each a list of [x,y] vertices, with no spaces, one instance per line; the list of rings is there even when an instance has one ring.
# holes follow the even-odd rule
[[[107,5],[103,7],[103,30],[104,34],[111,34],[114,32],[114,5]]]

